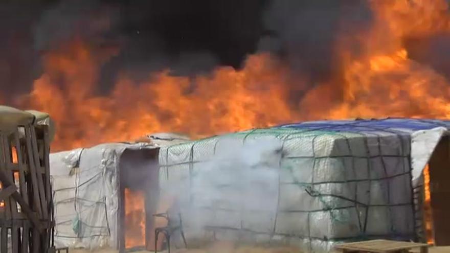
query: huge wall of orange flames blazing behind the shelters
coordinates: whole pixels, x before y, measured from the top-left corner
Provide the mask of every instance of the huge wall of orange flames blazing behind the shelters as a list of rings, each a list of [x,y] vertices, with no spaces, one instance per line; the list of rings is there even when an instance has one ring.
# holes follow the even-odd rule
[[[313,89],[269,54],[248,57],[242,70],[174,77],[169,70],[134,81],[120,73],[109,96],[99,96],[101,66],[119,48],[75,39],[44,55],[43,74],[21,107],[56,121],[53,151],[134,140],[158,131],[198,137],[284,122],[356,117],[450,117],[448,80],[412,60],[409,38],[450,33],[445,0],[371,1],[373,24],[336,39],[340,71]],[[345,30],[345,29],[344,29]],[[354,44],[358,53],[354,53]],[[292,87],[306,95],[293,104]]]

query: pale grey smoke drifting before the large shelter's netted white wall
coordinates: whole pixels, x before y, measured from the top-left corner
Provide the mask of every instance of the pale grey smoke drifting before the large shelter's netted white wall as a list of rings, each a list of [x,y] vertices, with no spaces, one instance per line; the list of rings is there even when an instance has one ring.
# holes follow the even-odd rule
[[[162,189],[175,199],[171,212],[181,212],[190,234],[206,226],[229,222],[192,209],[235,210],[243,217],[249,212],[276,213],[282,143],[273,137],[259,140],[222,139],[209,162],[195,166],[192,181],[177,188]],[[189,187],[190,185],[190,187]],[[191,195],[191,199],[185,196]],[[223,217],[229,219],[230,217]],[[273,220],[260,220],[270,224]],[[201,232],[200,232],[201,233]]]

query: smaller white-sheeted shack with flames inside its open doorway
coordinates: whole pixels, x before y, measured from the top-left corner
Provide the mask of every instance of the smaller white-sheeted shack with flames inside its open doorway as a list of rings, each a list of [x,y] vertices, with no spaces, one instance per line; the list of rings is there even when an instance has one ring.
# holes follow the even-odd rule
[[[158,206],[159,147],[185,141],[159,133],[51,154],[56,246],[145,247]]]

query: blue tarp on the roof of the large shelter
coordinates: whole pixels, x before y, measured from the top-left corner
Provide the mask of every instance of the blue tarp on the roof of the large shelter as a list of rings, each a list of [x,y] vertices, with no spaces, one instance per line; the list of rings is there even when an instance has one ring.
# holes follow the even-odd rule
[[[450,129],[450,121],[427,119],[388,118],[379,120],[314,121],[281,125],[282,128],[296,128],[305,131],[324,130],[336,132],[391,132],[411,133],[436,127]]]

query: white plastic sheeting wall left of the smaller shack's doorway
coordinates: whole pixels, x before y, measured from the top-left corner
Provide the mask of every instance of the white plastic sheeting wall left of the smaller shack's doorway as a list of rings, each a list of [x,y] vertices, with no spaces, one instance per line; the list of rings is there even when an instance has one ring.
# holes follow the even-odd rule
[[[100,146],[50,155],[57,247],[116,247],[121,150]]]

